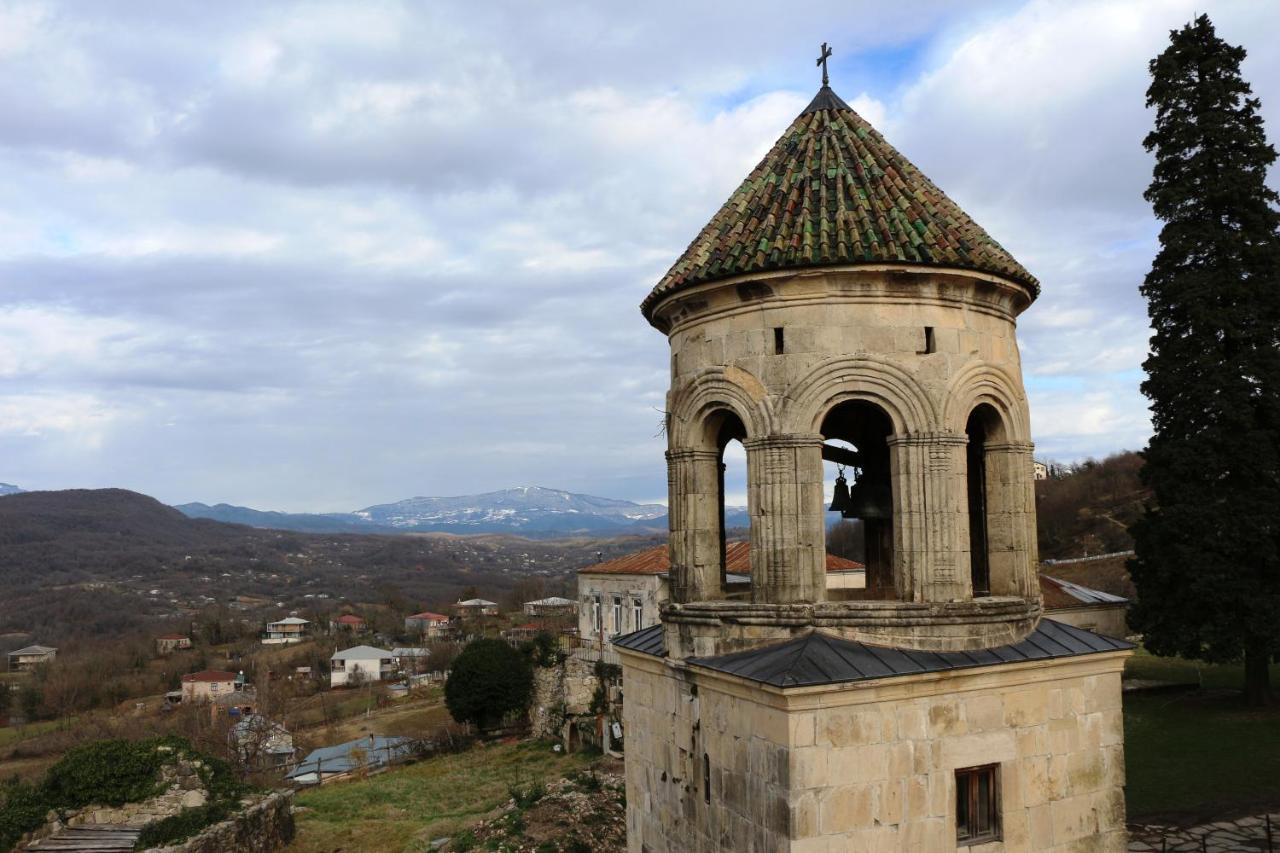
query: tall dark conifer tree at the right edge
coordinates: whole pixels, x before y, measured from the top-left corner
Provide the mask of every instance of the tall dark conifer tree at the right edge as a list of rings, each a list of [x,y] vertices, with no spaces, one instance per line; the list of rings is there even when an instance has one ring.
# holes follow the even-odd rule
[[[1153,434],[1130,621],[1157,654],[1245,662],[1252,704],[1280,651],[1280,215],[1276,159],[1207,15],[1151,61],[1146,199],[1164,222],[1142,287]]]

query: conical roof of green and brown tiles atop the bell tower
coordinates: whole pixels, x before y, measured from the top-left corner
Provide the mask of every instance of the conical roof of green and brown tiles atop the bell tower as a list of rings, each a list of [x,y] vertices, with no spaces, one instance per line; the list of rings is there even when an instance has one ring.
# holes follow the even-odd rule
[[[910,160],[823,86],[641,305],[730,275],[922,264],[1039,286]]]

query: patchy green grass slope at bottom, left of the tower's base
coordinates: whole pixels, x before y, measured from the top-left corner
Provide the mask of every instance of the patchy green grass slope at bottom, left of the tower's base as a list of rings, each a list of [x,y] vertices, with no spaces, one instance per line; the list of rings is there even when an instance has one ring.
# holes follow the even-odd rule
[[[512,785],[550,781],[588,758],[545,743],[479,747],[364,781],[333,783],[298,794],[298,835],[289,850],[425,850],[502,806]]]

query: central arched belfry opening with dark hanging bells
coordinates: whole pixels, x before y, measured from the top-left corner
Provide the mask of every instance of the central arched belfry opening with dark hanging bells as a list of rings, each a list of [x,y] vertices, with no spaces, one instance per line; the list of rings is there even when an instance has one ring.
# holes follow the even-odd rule
[[[840,403],[823,418],[822,459],[826,478],[832,483],[828,493],[833,496],[828,511],[838,512],[836,524],[851,521],[838,532],[828,528],[828,566],[829,555],[838,549],[836,557],[847,557],[846,549],[856,548],[860,539],[864,564],[864,585],[833,588],[828,578],[828,597],[832,599],[850,598],[896,598],[897,584],[893,578],[893,482],[890,466],[888,437],[893,424],[879,406],[854,400]],[[841,483],[840,478],[844,478]],[[838,543],[849,537],[852,543]]]

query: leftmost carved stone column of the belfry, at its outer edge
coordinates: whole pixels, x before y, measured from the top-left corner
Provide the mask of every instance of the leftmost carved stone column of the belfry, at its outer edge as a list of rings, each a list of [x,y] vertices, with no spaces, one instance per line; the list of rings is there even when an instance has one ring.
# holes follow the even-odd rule
[[[667,451],[671,599],[721,598],[719,453]]]

